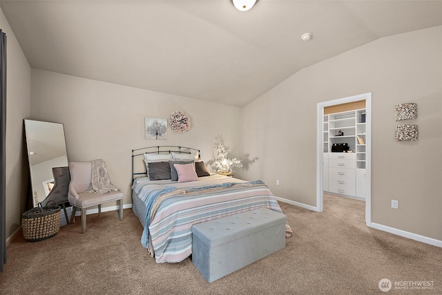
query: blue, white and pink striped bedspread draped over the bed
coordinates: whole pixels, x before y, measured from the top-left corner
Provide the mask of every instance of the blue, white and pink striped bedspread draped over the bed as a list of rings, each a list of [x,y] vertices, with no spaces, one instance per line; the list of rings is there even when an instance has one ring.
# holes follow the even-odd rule
[[[264,183],[221,175],[185,183],[135,182],[133,191],[146,206],[141,242],[157,263],[191,255],[193,224],[262,207],[282,212]]]

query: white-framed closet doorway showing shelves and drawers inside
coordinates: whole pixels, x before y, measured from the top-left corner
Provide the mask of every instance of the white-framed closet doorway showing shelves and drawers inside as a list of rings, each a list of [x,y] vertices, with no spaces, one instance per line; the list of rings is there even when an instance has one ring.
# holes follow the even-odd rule
[[[323,211],[324,191],[353,196],[365,200],[367,226],[371,226],[371,106],[372,93],[317,105],[316,209]],[[351,153],[334,153],[341,150]]]

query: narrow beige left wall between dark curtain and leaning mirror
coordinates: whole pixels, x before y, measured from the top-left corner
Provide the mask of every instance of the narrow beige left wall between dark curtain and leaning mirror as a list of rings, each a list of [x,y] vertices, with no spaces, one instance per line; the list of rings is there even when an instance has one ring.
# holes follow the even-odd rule
[[[30,66],[0,9],[0,28],[6,32],[6,234],[21,223],[28,202],[29,168],[23,119],[30,115]]]

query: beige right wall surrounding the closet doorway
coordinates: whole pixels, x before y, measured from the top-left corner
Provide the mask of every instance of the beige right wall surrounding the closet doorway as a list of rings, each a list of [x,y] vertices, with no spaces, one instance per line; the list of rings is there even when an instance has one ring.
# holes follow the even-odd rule
[[[372,222],[442,240],[441,72],[441,26],[378,39],[300,70],[244,107],[243,152],[258,157],[244,177],[316,206],[316,105],[371,92]],[[403,102],[418,104],[418,119],[394,121],[394,105]],[[398,124],[418,124],[419,140],[396,142]],[[399,209],[391,209],[392,199]]]

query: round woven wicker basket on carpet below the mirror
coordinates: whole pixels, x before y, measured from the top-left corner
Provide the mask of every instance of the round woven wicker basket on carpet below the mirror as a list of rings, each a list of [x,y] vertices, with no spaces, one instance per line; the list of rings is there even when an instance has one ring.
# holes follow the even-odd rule
[[[30,242],[52,238],[60,229],[60,216],[59,206],[42,207],[39,203],[38,207],[23,213],[21,218],[23,238]]]

